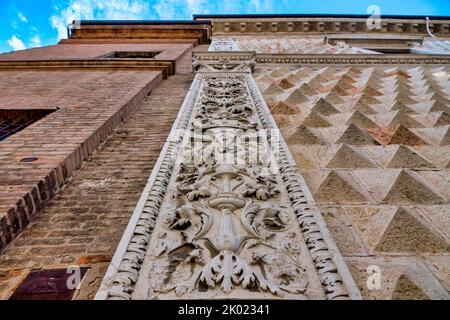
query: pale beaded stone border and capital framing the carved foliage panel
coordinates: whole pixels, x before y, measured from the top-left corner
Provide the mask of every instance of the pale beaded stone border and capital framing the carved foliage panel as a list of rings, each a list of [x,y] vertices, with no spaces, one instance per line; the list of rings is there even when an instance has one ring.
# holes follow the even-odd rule
[[[248,59],[248,58],[251,59]],[[274,142],[271,130],[278,130],[264,99],[251,76],[253,54],[243,52],[209,52],[196,54],[194,62],[199,70],[191,90],[180,110],[168,141],[153,169],[152,175],[133,213],[113,261],[103,280],[96,299],[131,299],[139,279],[140,269],[159,215],[169,181],[176,164],[176,154],[183,143],[183,134],[189,126],[204,77],[211,73],[221,77],[244,76],[247,91],[266,129],[273,156],[277,159],[281,178],[287,190],[292,209],[314,262],[324,295],[329,300],[361,299],[359,291],[343,262],[336,245],[328,234],[325,223],[313,206],[312,196],[282,137]],[[204,59],[203,59],[204,58]]]

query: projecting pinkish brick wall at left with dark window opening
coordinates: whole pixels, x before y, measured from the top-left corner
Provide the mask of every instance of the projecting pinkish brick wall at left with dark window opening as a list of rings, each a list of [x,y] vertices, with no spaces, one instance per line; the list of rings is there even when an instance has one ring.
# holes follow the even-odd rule
[[[0,73],[2,109],[59,108],[0,145],[0,249],[160,81],[157,72]]]

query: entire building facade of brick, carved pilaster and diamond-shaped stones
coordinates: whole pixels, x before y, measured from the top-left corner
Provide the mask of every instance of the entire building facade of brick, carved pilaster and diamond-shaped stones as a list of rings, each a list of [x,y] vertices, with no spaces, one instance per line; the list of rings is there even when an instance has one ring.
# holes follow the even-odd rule
[[[449,299],[449,27],[78,21],[0,55],[0,298]]]

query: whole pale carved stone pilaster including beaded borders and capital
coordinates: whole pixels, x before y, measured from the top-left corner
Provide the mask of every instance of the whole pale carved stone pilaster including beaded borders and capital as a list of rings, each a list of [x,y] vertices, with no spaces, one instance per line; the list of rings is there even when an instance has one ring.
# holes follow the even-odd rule
[[[348,297],[255,96],[253,65],[245,53],[196,61],[185,133],[169,146],[108,298]]]

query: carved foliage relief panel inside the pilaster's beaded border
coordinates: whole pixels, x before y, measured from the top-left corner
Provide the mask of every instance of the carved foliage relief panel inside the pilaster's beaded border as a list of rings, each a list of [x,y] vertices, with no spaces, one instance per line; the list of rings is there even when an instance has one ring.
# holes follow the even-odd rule
[[[203,76],[136,298],[323,298],[262,129],[245,76]]]

